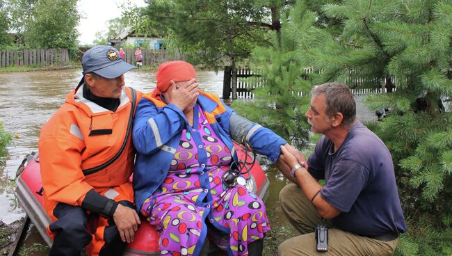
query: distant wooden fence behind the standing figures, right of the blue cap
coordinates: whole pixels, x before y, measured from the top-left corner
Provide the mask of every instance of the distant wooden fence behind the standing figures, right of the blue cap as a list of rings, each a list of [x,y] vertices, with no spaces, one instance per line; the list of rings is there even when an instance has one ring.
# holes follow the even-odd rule
[[[168,51],[167,49],[149,50],[142,49],[143,65],[160,65],[166,61],[183,61],[184,56],[178,51]],[[131,65],[136,65],[135,49],[124,49],[124,61]]]

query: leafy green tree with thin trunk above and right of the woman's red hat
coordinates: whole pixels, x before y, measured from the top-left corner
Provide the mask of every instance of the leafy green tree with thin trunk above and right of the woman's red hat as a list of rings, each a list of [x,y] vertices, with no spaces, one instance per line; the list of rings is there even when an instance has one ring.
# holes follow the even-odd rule
[[[171,0],[150,1],[142,12],[150,26],[172,36],[175,47],[189,54],[190,61],[218,69],[224,61],[232,66],[250,57],[258,45],[269,45],[269,30],[279,31],[283,0]],[[234,88],[233,88],[234,92]],[[233,93],[233,98],[236,95]]]

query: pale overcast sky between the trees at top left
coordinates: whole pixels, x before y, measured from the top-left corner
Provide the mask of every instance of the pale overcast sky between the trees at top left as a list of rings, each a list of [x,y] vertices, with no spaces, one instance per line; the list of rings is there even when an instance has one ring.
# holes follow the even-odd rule
[[[81,45],[90,45],[95,40],[98,31],[107,31],[107,21],[121,17],[123,3],[139,7],[146,6],[144,0],[79,0],[77,8],[81,15],[79,21],[79,42]]]

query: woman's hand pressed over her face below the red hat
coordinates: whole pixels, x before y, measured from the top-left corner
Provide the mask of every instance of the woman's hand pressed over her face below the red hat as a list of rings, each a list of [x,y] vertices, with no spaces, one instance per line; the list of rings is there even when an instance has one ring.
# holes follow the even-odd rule
[[[195,79],[188,81],[186,86],[177,86],[175,81],[171,81],[171,86],[163,95],[168,104],[174,104],[181,111],[185,111],[189,107],[193,109],[195,106],[197,95],[200,94],[197,91],[199,86],[200,84]]]

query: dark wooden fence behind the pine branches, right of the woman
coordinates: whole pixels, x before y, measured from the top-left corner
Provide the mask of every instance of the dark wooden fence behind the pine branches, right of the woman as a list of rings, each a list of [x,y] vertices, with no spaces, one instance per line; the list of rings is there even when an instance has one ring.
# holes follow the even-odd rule
[[[305,68],[303,70],[305,74],[312,73],[312,69]],[[254,93],[252,93],[252,89],[264,86],[265,79],[261,77],[260,70],[250,70],[249,67],[241,67],[237,68],[236,76],[237,76],[237,85],[236,85],[236,93],[238,99],[252,99],[255,97]],[[247,79],[252,77],[252,80]],[[226,66],[224,77],[223,77],[223,99],[229,99],[232,97],[232,67]],[[303,77],[303,79],[307,79],[307,77]],[[391,77],[391,83],[394,84],[396,79]],[[354,95],[364,95],[369,93],[387,93],[386,88],[382,88],[382,85],[385,84],[385,79],[364,79],[364,78],[354,78],[350,73],[350,77],[346,78],[346,84],[350,85],[352,88],[350,89]],[[373,88],[364,88],[364,84],[373,84]],[[384,87],[384,86],[383,86]],[[395,88],[394,88],[395,90]],[[301,92],[294,92],[298,96],[301,96]]]

